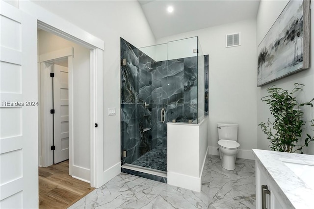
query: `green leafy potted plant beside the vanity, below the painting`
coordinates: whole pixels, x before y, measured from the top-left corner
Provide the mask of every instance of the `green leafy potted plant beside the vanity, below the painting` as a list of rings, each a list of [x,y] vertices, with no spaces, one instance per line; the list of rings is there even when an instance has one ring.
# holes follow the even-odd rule
[[[271,150],[281,152],[295,152],[300,151],[302,154],[302,148],[308,146],[311,141],[314,141],[314,137],[306,134],[302,144],[299,144],[299,139],[302,139],[302,130],[306,123],[312,123],[311,127],[314,127],[314,119],[309,121],[303,121],[303,111],[300,106],[310,105],[313,107],[312,99],[310,102],[299,104],[294,93],[302,91],[303,84],[294,84],[294,88],[291,92],[283,90],[281,88],[267,88],[269,95],[262,97],[262,101],[266,102],[270,106],[271,115],[274,118],[274,122],[261,122],[259,126],[262,128],[264,134],[267,135],[267,139],[270,140]],[[312,129],[313,130],[313,129]],[[304,142],[304,144],[303,144]]]

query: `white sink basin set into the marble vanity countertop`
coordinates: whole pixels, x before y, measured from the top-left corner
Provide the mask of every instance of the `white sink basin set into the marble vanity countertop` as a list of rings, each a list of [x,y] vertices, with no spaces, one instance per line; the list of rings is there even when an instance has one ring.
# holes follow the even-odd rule
[[[280,158],[307,186],[314,189],[314,162]]]

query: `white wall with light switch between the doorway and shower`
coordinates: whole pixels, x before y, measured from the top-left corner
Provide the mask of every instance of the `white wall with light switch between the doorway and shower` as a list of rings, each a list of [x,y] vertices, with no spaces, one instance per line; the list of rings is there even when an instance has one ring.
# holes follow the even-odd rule
[[[33,1],[105,41],[104,170],[120,166],[120,37],[136,47],[155,44],[137,1]],[[116,116],[107,116],[115,107]]]

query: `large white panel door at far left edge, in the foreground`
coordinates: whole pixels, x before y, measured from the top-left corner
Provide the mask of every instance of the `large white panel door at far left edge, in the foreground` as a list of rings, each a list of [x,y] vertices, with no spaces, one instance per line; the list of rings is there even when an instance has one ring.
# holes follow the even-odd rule
[[[38,208],[37,20],[0,0],[0,208]]]

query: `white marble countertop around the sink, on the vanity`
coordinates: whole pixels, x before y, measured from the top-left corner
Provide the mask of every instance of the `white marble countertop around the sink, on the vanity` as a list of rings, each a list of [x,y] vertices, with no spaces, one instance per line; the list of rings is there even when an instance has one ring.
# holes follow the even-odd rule
[[[276,190],[289,208],[310,209],[314,205],[314,189],[303,182],[281,159],[314,163],[314,155],[252,149],[265,173],[273,180]],[[311,174],[314,181],[314,173]]]

